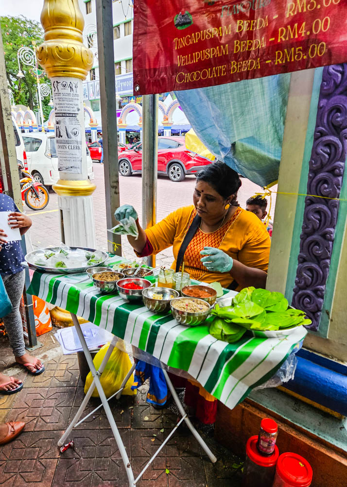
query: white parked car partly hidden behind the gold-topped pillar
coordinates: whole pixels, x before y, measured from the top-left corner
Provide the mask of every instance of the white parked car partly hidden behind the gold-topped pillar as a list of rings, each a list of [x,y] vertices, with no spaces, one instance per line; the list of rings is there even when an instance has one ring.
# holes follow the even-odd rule
[[[58,156],[54,134],[30,132],[22,134],[28,159],[28,169],[34,179],[45,186],[52,186],[59,179]],[[93,164],[87,150],[88,178],[94,179]]]

